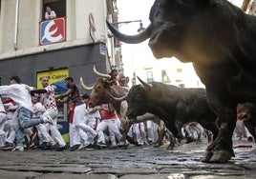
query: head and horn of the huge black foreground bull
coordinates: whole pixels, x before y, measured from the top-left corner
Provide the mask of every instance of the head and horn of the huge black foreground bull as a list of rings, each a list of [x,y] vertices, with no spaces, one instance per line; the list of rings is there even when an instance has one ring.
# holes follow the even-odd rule
[[[178,56],[184,43],[183,38],[194,24],[194,17],[203,11],[208,3],[209,0],[156,0],[150,10],[150,25],[137,35],[122,34],[109,22],[107,26],[125,43],[138,44],[149,39],[148,44],[156,58]]]

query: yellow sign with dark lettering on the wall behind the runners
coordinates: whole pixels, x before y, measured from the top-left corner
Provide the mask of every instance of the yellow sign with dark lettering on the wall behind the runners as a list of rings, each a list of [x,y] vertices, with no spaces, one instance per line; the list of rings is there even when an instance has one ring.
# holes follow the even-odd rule
[[[42,89],[42,78],[48,77],[49,84],[64,80],[69,76],[69,69],[44,70],[36,72],[36,89]]]

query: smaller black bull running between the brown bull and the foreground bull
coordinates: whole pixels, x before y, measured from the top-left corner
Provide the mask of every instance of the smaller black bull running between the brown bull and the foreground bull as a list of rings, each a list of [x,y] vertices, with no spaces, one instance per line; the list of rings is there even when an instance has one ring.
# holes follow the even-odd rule
[[[205,89],[180,89],[159,82],[139,81],[142,85],[133,86],[126,98],[128,118],[134,119],[146,112],[155,114],[179,142],[184,139],[181,127],[190,122],[199,122],[212,131],[213,139],[217,137],[216,114],[207,104]],[[181,143],[192,142],[189,138],[186,140]]]

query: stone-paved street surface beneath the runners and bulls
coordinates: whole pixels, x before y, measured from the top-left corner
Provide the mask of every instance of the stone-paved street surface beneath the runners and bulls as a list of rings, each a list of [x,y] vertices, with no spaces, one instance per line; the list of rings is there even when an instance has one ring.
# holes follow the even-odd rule
[[[247,148],[251,145],[252,148]],[[256,178],[256,145],[234,140],[236,157],[225,164],[200,162],[207,144],[166,150],[87,149],[0,151],[0,179],[201,179]]]

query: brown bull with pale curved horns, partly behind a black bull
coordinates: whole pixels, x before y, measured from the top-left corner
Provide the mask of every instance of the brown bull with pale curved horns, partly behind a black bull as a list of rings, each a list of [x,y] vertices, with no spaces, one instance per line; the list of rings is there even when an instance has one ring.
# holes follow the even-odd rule
[[[92,90],[90,102],[93,107],[101,104],[111,103],[117,110],[117,115],[121,121],[121,129],[123,129],[121,141],[125,141],[127,138],[131,143],[137,144],[132,138],[127,136],[127,132],[129,131],[130,127],[132,124],[153,120],[160,126],[160,137],[157,142],[157,144],[160,145],[165,132],[168,131],[160,118],[153,114],[147,113],[145,115],[139,116],[138,119],[128,121],[126,117],[128,108],[127,102],[121,98],[126,96],[129,89],[115,85],[116,81],[112,80],[110,75],[97,71],[96,66],[94,66],[94,72],[97,76],[99,76],[95,85],[92,87],[87,87],[84,85],[82,78],[80,78],[81,87],[85,90]],[[117,100],[117,98],[121,100]],[[173,148],[175,146],[175,140],[171,138],[171,141],[173,141],[173,143],[171,143],[170,147]]]

